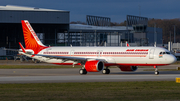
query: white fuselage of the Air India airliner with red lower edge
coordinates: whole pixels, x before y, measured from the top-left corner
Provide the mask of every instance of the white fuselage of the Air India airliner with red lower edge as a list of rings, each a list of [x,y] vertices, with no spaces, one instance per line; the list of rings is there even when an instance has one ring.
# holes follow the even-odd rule
[[[172,54],[160,55],[160,52],[169,51],[160,47],[48,47],[41,50],[38,54],[103,59],[111,65],[160,66],[176,61],[176,58]],[[79,61],[51,59],[21,53],[48,63],[79,63]]]

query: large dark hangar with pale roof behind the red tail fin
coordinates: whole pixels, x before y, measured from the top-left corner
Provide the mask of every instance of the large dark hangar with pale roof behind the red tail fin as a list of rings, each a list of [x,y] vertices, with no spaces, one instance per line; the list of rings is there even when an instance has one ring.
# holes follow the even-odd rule
[[[0,6],[0,47],[17,49],[18,42],[24,43],[21,20],[29,20],[45,44],[56,43],[55,33],[69,30],[69,11]]]

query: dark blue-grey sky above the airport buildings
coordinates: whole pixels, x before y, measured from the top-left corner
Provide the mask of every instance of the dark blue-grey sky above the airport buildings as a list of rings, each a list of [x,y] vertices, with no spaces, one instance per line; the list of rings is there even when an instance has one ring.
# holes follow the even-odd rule
[[[86,15],[123,22],[126,15],[155,19],[180,18],[180,0],[0,0],[0,6],[18,5],[70,11],[70,21],[86,21]]]

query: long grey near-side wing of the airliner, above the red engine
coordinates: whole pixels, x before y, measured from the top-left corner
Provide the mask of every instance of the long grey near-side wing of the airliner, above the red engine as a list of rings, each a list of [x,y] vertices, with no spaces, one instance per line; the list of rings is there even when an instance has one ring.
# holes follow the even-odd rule
[[[50,59],[65,59],[65,60],[72,60],[72,61],[88,61],[88,60],[100,60],[106,62],[105,59],[98,59],[98,58],[85,58],[85,57],[74,57],[74,56],[53,56],[53,55],[41,55],[41,54],[34,54],[35,56],[42,56]]]

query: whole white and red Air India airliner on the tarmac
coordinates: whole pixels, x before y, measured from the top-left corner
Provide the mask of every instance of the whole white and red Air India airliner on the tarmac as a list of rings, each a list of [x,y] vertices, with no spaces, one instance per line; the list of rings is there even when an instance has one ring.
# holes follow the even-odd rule
[[[22,20],[25,48],[20,53],[28,57],[57,65],[81,65],[80,74],[100,72],[109,74],[109,66],[121,71],[135,71],[138,66],[157,66],[176,62],[168,50],[160,47],[48,47],[41,43],[30,23]]]

